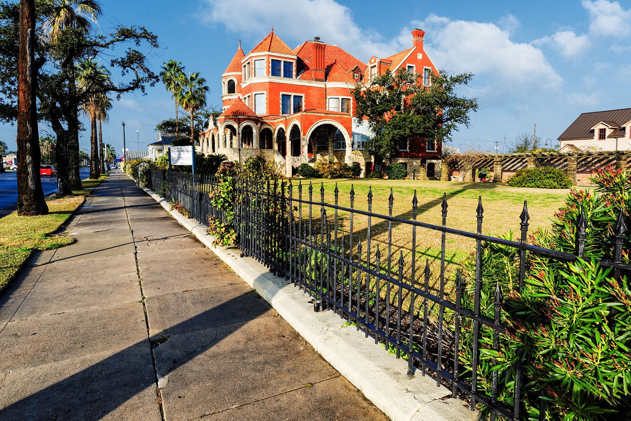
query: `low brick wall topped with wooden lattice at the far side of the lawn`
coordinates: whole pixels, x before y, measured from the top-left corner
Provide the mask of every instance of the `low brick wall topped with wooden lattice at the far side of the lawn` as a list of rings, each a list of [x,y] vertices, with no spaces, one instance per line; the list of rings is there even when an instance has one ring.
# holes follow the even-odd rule
[[[591,186],[594,170],[613,166],[631,166],[631,151],[583,153],[510,153],[505,155],[478,154],[449,160],[450,174],[458,181],[478,181],[478,170],[490,169],[487,179],[507,182],[517,170],[534,167],[554,167],[562,170],[577,186]]]

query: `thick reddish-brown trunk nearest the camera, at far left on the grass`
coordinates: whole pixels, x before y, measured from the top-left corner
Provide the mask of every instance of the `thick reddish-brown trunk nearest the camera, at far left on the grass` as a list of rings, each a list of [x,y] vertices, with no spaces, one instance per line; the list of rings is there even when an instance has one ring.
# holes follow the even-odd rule
[[[18,215],[45,215],[39,174],[40,146],[35,98],[35,1],[20,0],[18,60]]]

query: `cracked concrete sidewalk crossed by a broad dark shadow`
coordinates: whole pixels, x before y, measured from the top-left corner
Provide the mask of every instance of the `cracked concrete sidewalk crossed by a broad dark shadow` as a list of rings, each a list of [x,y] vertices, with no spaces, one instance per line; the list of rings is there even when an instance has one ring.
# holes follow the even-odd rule
[[[121,173],[0,297],[0,418],[385,419]]]

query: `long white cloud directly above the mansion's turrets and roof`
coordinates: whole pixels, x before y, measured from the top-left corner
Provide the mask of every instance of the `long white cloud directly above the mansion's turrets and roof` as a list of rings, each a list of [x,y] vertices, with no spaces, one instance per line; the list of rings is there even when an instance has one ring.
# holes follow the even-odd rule
[[[254,40],[262,39],[274,27],[274,32],[288,44],[292,38],[302,43],[319,36],[327,44],[337,44],[362,61],[368,61],[373,54],[387,57],[411,46],[409,31],[384,41],[375,30],[358,27],[351,9],[334,0],[279,0],[274,2],[274,7],[255,0],[204,1],[208,5],[204,10],[206,22],[223,25]],[[300,38],[295,38],[297,36]]]

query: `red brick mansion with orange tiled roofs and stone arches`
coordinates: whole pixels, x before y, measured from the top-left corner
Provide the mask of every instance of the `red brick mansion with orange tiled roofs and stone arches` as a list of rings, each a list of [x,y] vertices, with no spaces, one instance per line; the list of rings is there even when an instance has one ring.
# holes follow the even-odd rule
[[[242,163],[262,155],[293,175],[301,163],[333,158],[358,163],[362,175],[372,171],[372,158],[363,150],[371,136],[368,124],[353,118],[351,90],[387,69],[423,75],[437,71],[423,50],[422,30],[412,31],[410,49],[364,63],[319,37],[295,49],[271,32],[249,53],[239,49],[221,76],[223,112],[200,135],[201,151],[223,153]],[[409,143],[409,144],[408,144]],[[393,160],[407,166],[408,175],[439,177],[440,145],[410,141],[399,145]]]

